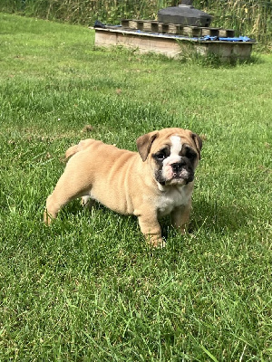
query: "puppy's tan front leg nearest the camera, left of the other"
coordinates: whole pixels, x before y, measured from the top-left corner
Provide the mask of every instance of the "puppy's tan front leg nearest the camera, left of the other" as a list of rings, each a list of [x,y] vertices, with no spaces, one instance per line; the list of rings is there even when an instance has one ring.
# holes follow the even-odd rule
[[[157,213],[141,214],[138,216],[141,233],[144,234],[145,239],[154,247],[163,247],[165,243],[161,238],[160,224],[158,221]]]

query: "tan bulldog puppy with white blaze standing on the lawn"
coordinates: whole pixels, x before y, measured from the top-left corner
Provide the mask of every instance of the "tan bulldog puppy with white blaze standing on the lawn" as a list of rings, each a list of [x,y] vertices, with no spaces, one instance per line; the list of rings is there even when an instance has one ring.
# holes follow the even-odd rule
[[[138,152],[85,139],[66,151],[63,175],[46,201],[44,223],[82,197],[99,201],[121,214],[138,217],[153,246],[164,246],[159,219],[170,214],[173,226],[185,233],[189,222],[194,173],[202,142],[188,129],[161,129],[137,139]]]

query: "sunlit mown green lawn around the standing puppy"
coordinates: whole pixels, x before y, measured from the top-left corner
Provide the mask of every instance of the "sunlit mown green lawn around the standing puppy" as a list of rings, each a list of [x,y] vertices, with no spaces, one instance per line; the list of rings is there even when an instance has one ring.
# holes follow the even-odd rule
[[[271,55],[215,68],[0,22],[1,361],[271,360]],[[205,139],[192,233],[166,219],[152,250],[133,217],[77,201],[44,226],[66,148],[170,126]]]

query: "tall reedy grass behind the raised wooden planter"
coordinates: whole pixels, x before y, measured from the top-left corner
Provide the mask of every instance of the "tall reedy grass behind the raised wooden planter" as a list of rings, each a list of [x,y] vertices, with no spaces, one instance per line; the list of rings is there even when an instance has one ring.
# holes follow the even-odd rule
[[[180,0],[1,0],[0,11],[37,16],[73,24],[120,24],[121,19],[149,19],[158,17],[158,11],[177,6]],[[213,27],[234,29],[257,39],[260,52],[271,51],[272,4],[269,0],[194,0],[196,9],[212,16]]]

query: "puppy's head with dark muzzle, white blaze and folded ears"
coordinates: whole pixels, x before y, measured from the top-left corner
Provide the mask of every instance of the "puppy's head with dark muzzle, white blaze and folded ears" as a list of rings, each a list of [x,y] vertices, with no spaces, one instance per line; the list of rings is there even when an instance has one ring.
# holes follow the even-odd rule
[[[194,179],[202,141],[188,129],[161,129],[138,138],[137,148],[161,186],[187,185]]]

